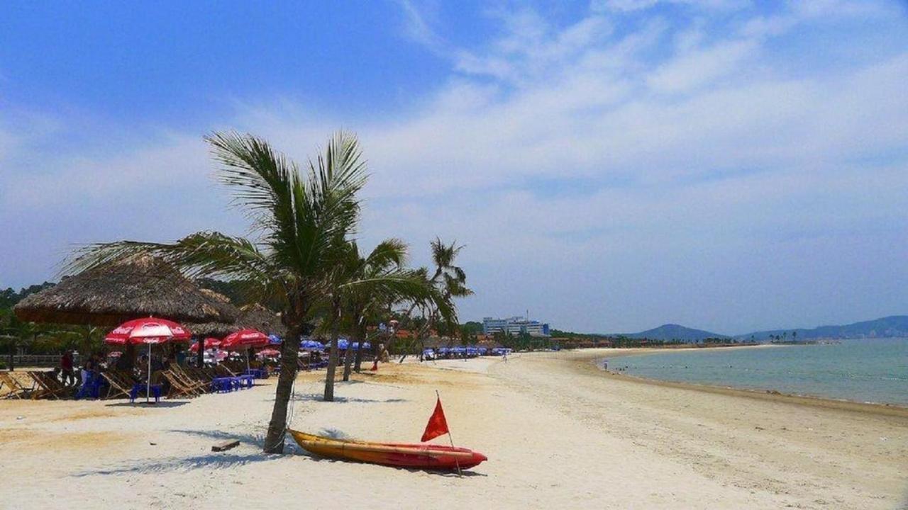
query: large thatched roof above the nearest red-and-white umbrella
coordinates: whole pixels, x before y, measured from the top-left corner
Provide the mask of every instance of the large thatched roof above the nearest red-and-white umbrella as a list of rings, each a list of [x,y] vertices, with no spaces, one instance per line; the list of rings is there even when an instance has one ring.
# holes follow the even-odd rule
[[[163,260],[137,255],[66,277],[15,306],[19,319],[116,326],[157,316],[184,322],[232,322],[239,310],[212,299]]]

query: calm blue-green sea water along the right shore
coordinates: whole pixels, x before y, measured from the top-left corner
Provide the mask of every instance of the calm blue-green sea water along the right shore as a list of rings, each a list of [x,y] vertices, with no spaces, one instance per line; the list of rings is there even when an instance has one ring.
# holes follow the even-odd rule
[[[908,405],[908,338],[677,349],[607,361],[610,370],[643,378]]]

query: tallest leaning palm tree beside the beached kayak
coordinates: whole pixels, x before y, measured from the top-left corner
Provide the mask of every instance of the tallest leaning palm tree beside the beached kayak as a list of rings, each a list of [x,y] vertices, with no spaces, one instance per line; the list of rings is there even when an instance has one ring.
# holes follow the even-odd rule
[[[79,250],[65,268],[85,270],[150,253],[193,278],[247,282],[251,298],[277,303],[287,337],[264,450],[281,453],[300,337],[330,294],[336,247],[359,220],[365,163],[356,138],[344,132],[331,138],[307,172],[250,134],[216,132],[205,140],[220,163],[220,181],[233,191],[233,204],[252,221],[252,239],[202,231],[173,243],[95,244]]]

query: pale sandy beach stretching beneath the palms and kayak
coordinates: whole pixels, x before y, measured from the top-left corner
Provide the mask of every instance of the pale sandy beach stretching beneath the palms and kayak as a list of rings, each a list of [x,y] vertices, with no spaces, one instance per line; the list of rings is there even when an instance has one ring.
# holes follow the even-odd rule
[[[454,440],[489,456],[462,478],[265,456],[273,379],[163,401],[0,402],[0,507],[903,508],[908,410],[608,375],[584,350],[302,374],[291,427],[419,440],[441,393]],[[212,453],[237,438],[241,446]],[[445,442],[447,438],[436,439]]]

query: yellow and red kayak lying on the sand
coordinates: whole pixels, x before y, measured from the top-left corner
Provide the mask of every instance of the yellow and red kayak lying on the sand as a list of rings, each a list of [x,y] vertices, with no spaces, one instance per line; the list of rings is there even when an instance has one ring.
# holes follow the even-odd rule
[[[488,458],[469,448],[439,445],[369,443],[314,436],[287,429],[297,444],[317,456],[356,460],[382,466],[453,471],[479,466]]]

